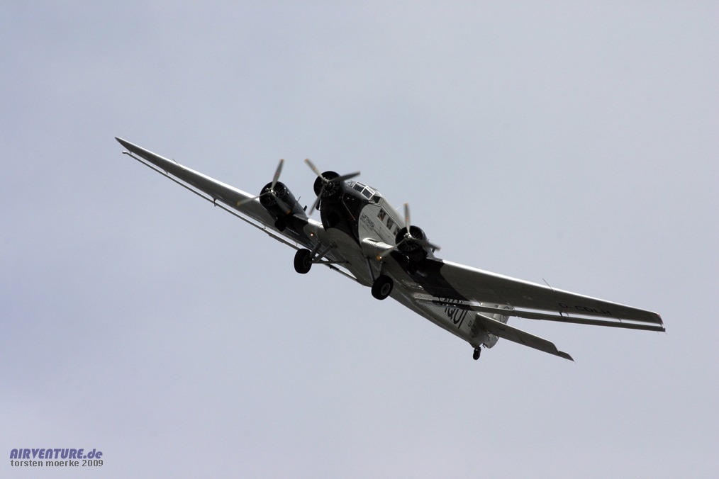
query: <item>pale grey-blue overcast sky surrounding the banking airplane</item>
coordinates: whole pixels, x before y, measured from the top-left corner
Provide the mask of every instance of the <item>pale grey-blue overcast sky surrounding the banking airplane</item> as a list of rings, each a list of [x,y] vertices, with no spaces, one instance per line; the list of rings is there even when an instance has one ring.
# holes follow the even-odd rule
[[[343,6],[337,6],[343,4]],[[719,6],[0,4],[3,477],[717,477]],[[361,180],[441,257],[659,312],[467,343],[129,157]],[[17,447],[100,470],[17,470]]]

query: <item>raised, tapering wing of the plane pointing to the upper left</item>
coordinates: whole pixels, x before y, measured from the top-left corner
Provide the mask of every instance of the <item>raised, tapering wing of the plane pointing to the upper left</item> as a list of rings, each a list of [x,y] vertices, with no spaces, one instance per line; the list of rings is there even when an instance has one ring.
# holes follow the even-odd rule
[[[161,175],[186,187],[188,190],[196,193],[196,195],[214,203],[214,205],[220,206],[224,210],[229,211],[229,213],[265,231],[265,233],[276,240],[288,244],[293,248],[297,248],[296,243],[301,244],[305,248],[315,246],[316,241],[313,241],[312,238],[316,236],[305,234],[305,231],[299,231],[298,233],[297,231],[290,231],[290,228],[284,232],[278,231],[278,229],[275,228],[274,218],[262,207],[260,201],[257,200],[254,195],[250,195],[247,192],[214,180],[200,172],[178,164],[178,162],[175,162],[173,159],[161,157],[127,140],[118,137],[115,137],[115,139],[127,149],[125,153],[129,154],[130,157],[137,159],[137,161],[145,164],[147,167],[155,169],[155,171]],[[226,206],[219,205],[217,202]],[[305,225],[303,230],[308,230],[315,234],[324,233],[324,228],[322,228],[321,223],[311,218],[298,218],[298,220],[301,220],[301,224]]]

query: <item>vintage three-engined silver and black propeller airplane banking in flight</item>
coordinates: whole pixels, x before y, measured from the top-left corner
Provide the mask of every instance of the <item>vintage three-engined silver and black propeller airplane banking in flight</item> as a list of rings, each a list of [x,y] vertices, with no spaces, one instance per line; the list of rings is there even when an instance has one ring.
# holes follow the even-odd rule
[[[307,274],[320,264],[370,287],[376,299],[391,297],[466,341],[472,358],[499,340],[512,341],[574,361],[551,341],[510,326],[510,317],[664,332],[656,312],[563,291],[439,259],[439,246],[375,188],[353,180],[359,172],[321,172],[309,213],[280,182],[284,160],[259,195],[223,182],[115,137],[123,154],[296,249],[294,268]],[[319,210],[320,220],[311,218]]]

